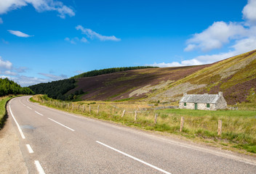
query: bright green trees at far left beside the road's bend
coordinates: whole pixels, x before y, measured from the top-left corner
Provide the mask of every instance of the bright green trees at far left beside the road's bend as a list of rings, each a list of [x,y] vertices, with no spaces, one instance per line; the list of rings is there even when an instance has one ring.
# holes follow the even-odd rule
[[[9,94],[33,94],[33,91],[28,87],[21,87],[8,78],[0,78],[0,96],[7,96]]]

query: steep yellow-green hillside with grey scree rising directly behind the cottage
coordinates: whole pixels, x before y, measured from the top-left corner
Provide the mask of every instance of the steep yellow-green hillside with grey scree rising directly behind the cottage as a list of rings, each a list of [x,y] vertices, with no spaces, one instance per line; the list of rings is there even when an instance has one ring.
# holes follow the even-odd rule
[[[228,104],[236,104],[248,101],[247,97],[255,86],[256,50],[205,67],[186,78],[177,80],[164,91],[158,91],[150,99],[177,101],[185,92],[217,94],[218,91],[223,91]]]

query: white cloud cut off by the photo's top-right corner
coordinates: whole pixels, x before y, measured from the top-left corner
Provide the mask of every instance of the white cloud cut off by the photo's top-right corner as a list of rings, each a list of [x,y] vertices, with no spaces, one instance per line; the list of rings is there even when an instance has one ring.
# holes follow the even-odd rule
[[[243,9],[244,19],[256,22],[256,0],[248,0],[248,4]]]

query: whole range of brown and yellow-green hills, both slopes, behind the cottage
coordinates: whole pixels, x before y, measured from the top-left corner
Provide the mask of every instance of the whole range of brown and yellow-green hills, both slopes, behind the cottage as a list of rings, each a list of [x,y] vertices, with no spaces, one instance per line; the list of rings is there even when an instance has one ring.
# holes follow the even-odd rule
[[[255,94],[256,50],[210,65],[102,72],[105,71],[97,70],[75,76],[73,88],[64,90],[58,96],[81,100],[143,99],[164,102],[179,101],[185,92],[217,94],[218,91],[223,91],[228,104],[236,104],[248,101],[248,97]],[[96,76],[89,75],[90,73]],[[91,77],[84,77],[86,75]],[[63,86],[53,83],[55,82],[48,85],[55,88]],[[33,91],[37,93],[36,88],[39,86],[40,84],[33,86]]]

